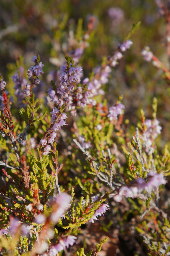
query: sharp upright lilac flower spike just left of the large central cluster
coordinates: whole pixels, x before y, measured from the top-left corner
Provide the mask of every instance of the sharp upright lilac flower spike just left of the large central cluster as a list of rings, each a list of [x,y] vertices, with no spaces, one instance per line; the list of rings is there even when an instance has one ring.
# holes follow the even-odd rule
[[[32,58],[32,62],[34,62],[34,66],[31,66],[29,69],[27,69],[27,78],[30,83],[26,83],[23,90],[27,96],[32,93],[32,88],[40,83],[38,76],[41,77],[41,74],[44,73],[42,70],[44,65],[42,62],[39,62],[39,56],[34,56]]]

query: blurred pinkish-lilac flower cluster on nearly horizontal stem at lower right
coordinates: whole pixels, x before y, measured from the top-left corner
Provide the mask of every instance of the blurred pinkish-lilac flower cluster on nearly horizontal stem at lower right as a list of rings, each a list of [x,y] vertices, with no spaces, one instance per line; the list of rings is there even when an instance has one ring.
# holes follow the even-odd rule
[[[159,185],[167,183],[162,174],[153,172],[148,174],[147,180],[146,182],[144,179],[138,178],[132,186],[122,186],[113,199],[116,202],[121,202],[123,196],[126,198],[136,198],[143,190],[149,193],[151,190],[159,188]]]

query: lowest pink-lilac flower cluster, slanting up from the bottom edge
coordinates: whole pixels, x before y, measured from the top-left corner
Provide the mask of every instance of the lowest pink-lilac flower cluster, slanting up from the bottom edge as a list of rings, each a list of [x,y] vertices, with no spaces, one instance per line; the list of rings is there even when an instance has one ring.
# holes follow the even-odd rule
[[[66,238],[60,239],[59,242],[56,245],[50,246],[49,249],[49,256],[56,256],[58,252],[61,252],[68,248],[69,245],[73,245],[75,243],[75,240],[77,237],[68,235]],[[43,253],[42,256],[46,256],[46,253]]]

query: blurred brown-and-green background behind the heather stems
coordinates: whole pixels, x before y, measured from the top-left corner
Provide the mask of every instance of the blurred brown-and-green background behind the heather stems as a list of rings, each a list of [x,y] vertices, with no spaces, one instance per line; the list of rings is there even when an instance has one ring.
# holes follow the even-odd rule
[[[169,8],[169,2],[165,3]],[[141,50],[149,46],[154,55],[169,66],[166,20],[154,0],[1,0],[0,74],[8,80],[19,56],[23,57],[25,68],[29,68],[32,56],[37,54],[46,74],[59,70],[77,29],[81,25],[79,41],[88,30],[91,17],[88,47],[80,59],[84,77],[102,63],[104,56],[111,56],[132,25],[141,21],[131,36],[131,49],[113,69],[105,91],[110,105],[124,92],[125,114],[134,125],[140,117],[140,108],[151,118],[152,99],[157,97],[158,119],[163,125],[163,139],[168,141],[169,81],[162,79],[162,70],[145,62],[141,56]],[[48,89],[48,81],[43,82]]]

